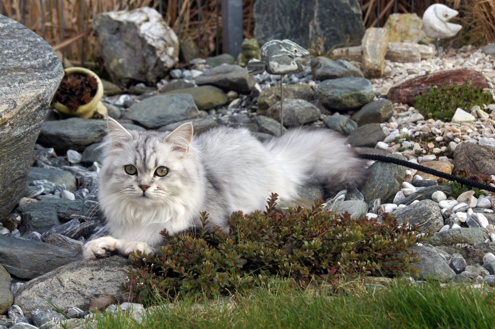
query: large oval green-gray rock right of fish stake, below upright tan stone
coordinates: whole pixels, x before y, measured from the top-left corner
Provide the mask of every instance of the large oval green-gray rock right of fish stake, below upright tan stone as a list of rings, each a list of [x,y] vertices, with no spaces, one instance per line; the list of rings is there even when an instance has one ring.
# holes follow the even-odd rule
[[[354,77],[325,80],[318,85],[316,94],[323,105],[334,110],[353,110],[375,97],[368,79]]]

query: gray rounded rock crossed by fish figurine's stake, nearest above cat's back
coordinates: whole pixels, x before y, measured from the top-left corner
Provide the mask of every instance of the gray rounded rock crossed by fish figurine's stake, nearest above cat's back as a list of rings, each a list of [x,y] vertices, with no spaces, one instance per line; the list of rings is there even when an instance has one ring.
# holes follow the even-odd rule
[[[320,118],[318,107],[303,99],[285,98],[282,102],[284,127],[301,126]],[[280,100],[270,106],[266,116],[280,122]]]

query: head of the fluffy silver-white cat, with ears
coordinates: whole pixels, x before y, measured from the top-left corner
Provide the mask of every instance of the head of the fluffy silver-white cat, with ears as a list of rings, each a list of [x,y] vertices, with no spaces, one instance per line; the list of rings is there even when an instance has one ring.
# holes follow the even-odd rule
[[[99,175],[99,200],[135,205],[172,205],[197,179],[191,145],[193,125],[173,132],[127,130],[107,119],[108,135]]]

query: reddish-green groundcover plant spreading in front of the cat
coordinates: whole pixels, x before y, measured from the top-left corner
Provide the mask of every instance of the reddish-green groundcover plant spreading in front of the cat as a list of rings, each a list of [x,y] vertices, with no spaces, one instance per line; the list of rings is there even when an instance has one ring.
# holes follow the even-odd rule
[[[206,213],[193,231],[162,232],[166,244],[160,253],[131,256],[137,269],[130,270],[122,291],[140,302],[155,296],[210,298],[281,281],[305,287],[343,274],[418,273],[413,265],[419,258],[407,249],[422,239],[416,238],[416,226],[399,226],[389,214],[381,223],[335,215],[323,210],[321,202],[284,216],[276,212],[276,199],[272,194],[264,212],[233,213],[229,232],[208,230]]]

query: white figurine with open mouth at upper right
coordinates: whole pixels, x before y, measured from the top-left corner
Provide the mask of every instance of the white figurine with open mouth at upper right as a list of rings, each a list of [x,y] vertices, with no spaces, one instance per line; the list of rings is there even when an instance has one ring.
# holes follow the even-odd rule
[[[447,7],[445,4],[435,3],[429,6],[423,14],[423,29],[426,36],[434,39],[455,36],[462,26],[448,23],[448,21],[458,14],[457,10]]]

